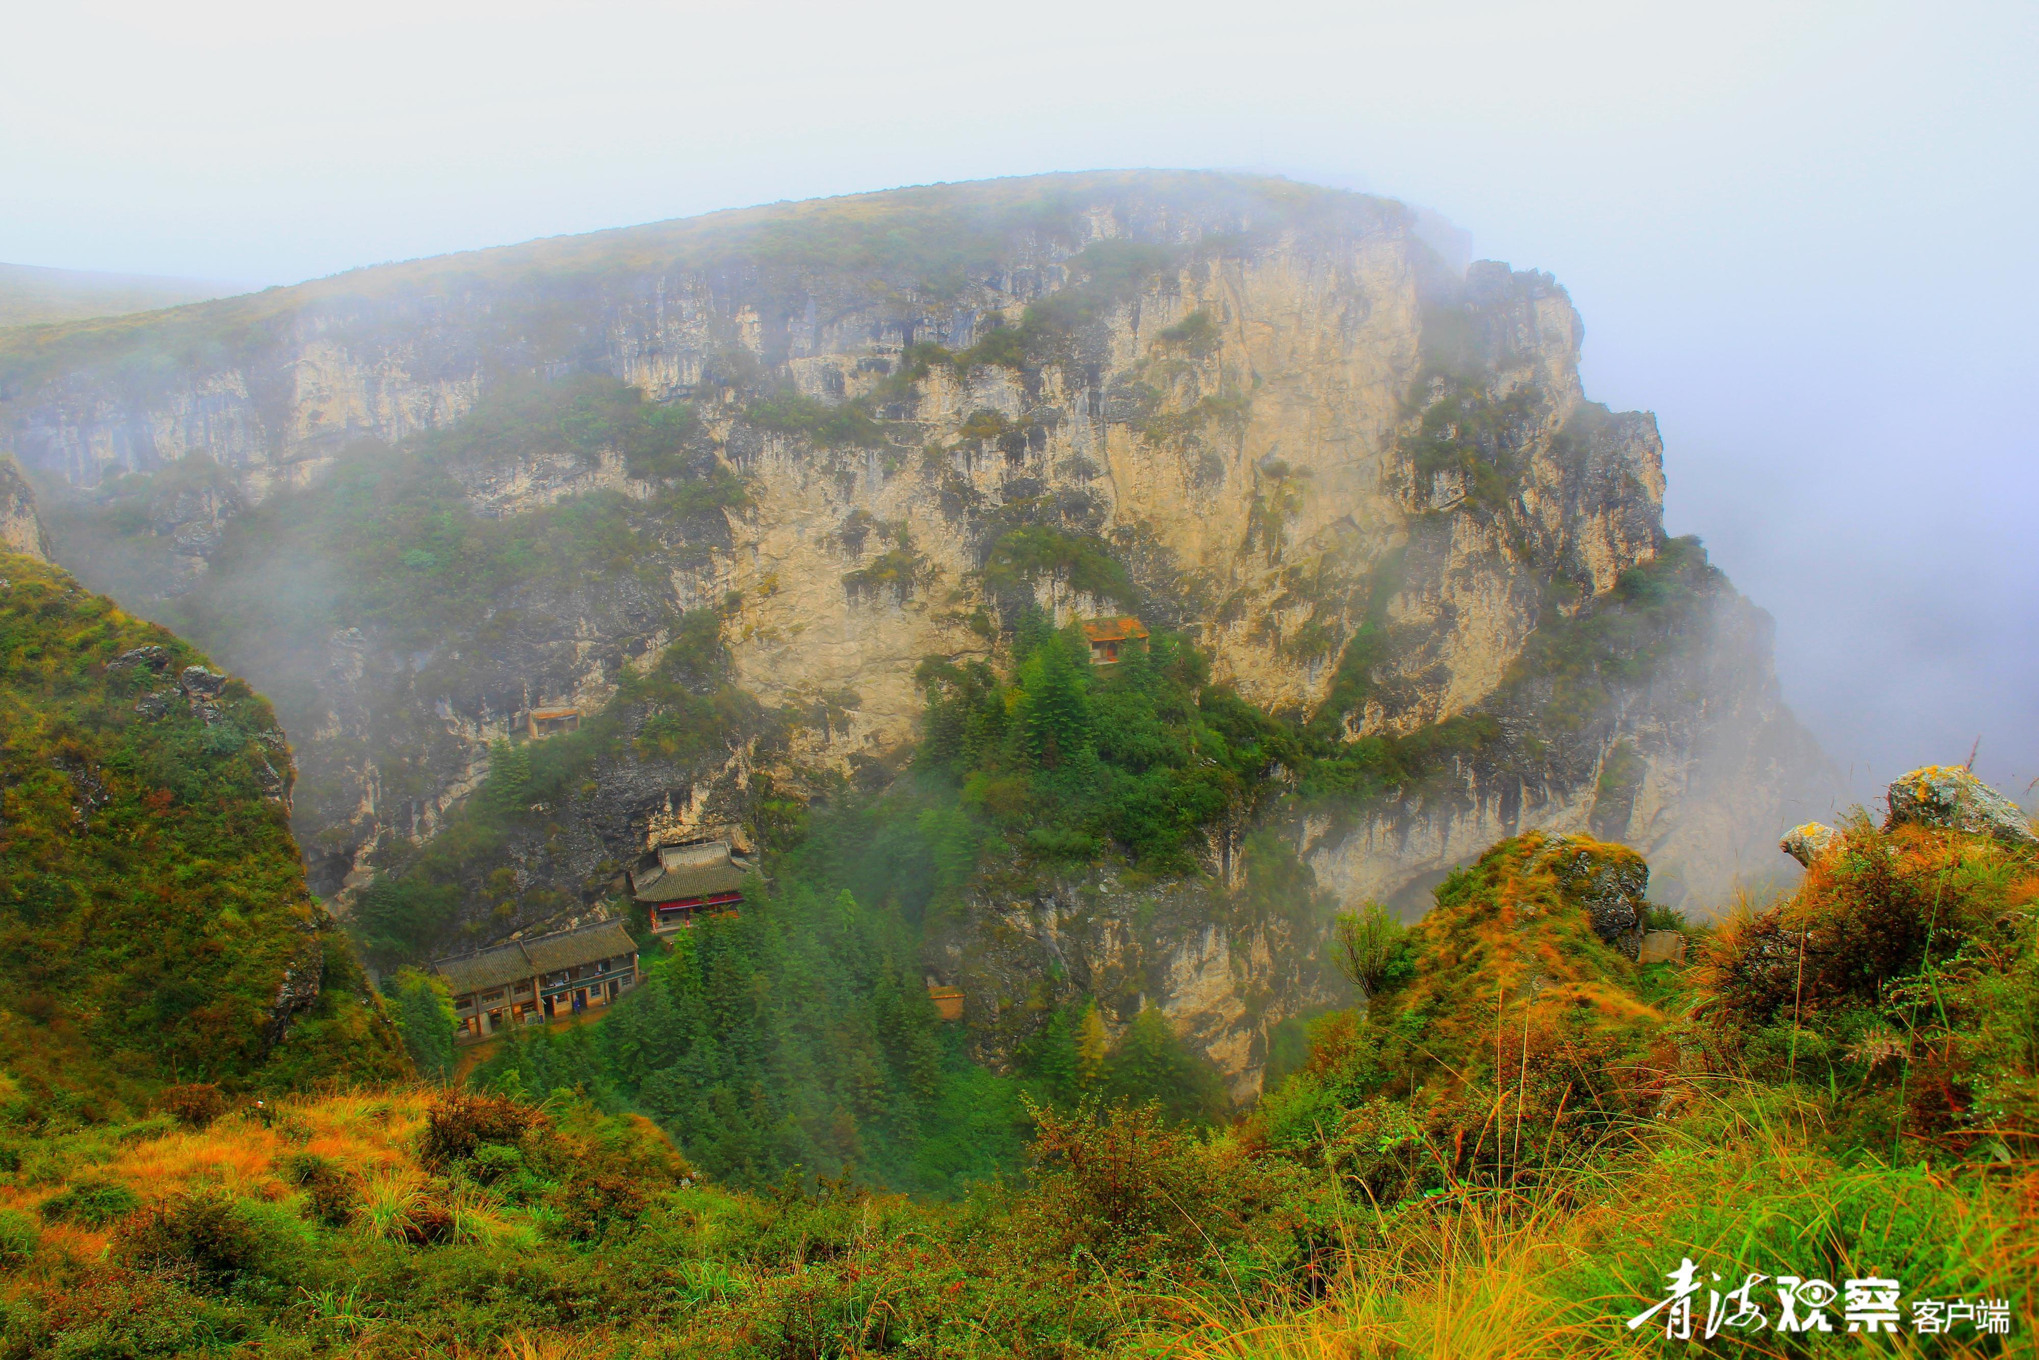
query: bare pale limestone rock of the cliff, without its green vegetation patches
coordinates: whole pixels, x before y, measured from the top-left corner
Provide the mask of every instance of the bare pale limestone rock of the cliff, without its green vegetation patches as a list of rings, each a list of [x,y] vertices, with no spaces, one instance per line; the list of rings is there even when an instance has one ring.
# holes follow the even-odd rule
[[[1554,279],[1491,261],[1458,275],[1384,200],[1227,175],[950,186],[165,316],[181,320],[133,326],[114,349],[0,349],[0,436],[75,502],[122,473],[169,485],[169,469],[206,469],[181,500],[157,498],[169,508],[149,534],[188,573],[161,573],[165,595],[210,569],[222,522],[318,485],[351,442],[459,422],[506,377],[602,373],[652,402],[687,398],[699,457],[746,487],[740,508],[675,526],[671,555],[630,583],[502,601],[518,622],[491,642],[479,622],[430,657],[334,634],[304,679],[314,720],[290,716],[312,732],[300,763],[322,793],[300,799],[300,834],[326,856],[326,889],[379,840],[428,832],[520,705],[599,705],[657,655],[661,610],[732,593],[738,683],[818,714],[775,756],[791,765],[891,759],[920,712],[913,667],[993,652],[1028,597],[1062,622],[1138,606],[1191,630],[1246,697],[1327,712],[1352,740],[1499,724],[1499,742],[1421,791],[1293,828],[1344,899],[1409,897],[1499,836],[1590,822],[1707,905],[1745,846],[1796,820],[1796,771],[1817,765],[1776,699],[1768,622],[1725,583],[1703,636],[1658,648],[1662,665],[1562,740],[1539,734],[1531,638],[1590,616],[1660,553],[1656,422],[1584,400],[1580,320]],[[194,324],[232,341],[192,345]],[[867,412],[869,428],[761,412],[787,394]],[[475,510],[508,518],[597,487],[652,493],[620,453],[483,449],[457,477]],[[1001,557],[1017,528],[1101,544],[1132,589],[1081,561]],[[385,787],[375,734],[389,722],[371,710],[400,712],[416,738],[402,789]],[[602,854],[671,834],[685,818],[646,807],[699,807],[699,781],[634,789]],[[1013,960],[1123,960],[1130,907],[1085,907],[1095,928],[1066,930],[1044,924],[1070,918],[1056,901],[985,903],[983,924],[1032,940]],[[999,926],[1001,911],[1017,916]],[[1211,930],[1144,940],[1128,977],[1250,1085],[1266,1026],[1317,983],[1295,981],[1307,948],[1270,944],[1278,930]],[[960,969],[977,946],[954,948]]]

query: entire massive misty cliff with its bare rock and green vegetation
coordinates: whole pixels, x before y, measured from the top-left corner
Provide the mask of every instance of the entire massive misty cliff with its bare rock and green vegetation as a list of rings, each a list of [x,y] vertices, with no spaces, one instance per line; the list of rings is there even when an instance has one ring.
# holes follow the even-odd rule
[[[836,879],[983,1058],[1158,1009],[1246,1101],[1348,997],[1336,911],[1546,830],[1707,916],[1831,805],[1580,345],[1556,279],[1389,200],[1048,175],[0,336],[0,440],[57,563],[275,701],[312,887],[383,964],[628,913],[659,844],[862,826]],[[1140,710],[1179,752],[1111,730],[1101,618],[1181,659]],[[1085,759],[1209,793],[1166,834],[999,801],[1066,769],[1026,746],[1054,646]],[[979,673],[1013,736],[938,759]]]

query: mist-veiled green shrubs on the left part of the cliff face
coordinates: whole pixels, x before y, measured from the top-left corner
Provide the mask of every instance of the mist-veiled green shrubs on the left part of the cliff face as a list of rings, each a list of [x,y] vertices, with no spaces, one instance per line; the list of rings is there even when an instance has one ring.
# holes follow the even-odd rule
[[[512,710],[536,677],[506,659],[569,630],[561,612],[630,620],[618,632],[679,626],[671,571],[701,561],[726,534],[720,512],[744,502],[693,432],[685,404],[650,406],[612,379],[504,381],[451,430],[349,447],[316,487],[241,510],[173,597],[161,587],[188,567],[153,524],[232,500],[208,459],[59,500],[47,518],[94,585],[153,601],[161,622],[261,677],[292,732],[336,732],[310,761],[298,820],[345,836],[359,803],[349,763],[373,761],[379,797],[400,805],[436,795],[457,756],[420,716],[418,689]],[[652,491],[595,489],[504,518],[475,510],[463,475],[481,459],[540,455],[565,455],[569,471],[620,457]],[[334,681],[336,646],[373,671]]]

